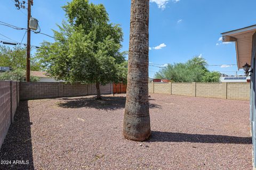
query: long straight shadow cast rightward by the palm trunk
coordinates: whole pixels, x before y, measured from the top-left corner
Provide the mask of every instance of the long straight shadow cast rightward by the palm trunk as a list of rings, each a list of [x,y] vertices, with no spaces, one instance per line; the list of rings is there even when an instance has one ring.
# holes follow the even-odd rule
[[[252,138],[231,137],[231,136],[226,136],[226,135],[187,134],[187,133],[151,131],[151,137],[147,142],[194,142],[194,143],[252,144]]]

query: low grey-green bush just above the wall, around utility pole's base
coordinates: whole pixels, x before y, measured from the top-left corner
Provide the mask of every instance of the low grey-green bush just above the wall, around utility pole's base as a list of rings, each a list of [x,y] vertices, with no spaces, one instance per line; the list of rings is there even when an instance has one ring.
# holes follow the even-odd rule
[[[26,81],[26,71],[15,69],[14,71],[6,71],[0,74],[0,80]],[[30,81],[39,81],[38,77],[30,76]]]

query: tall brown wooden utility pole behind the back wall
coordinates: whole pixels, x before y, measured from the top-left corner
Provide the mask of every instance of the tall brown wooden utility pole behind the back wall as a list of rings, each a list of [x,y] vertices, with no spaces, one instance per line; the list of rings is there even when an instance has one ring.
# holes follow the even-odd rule
[[[30,28],[29,21],[31,17],[31,5],[33,5],[33,0],[28,0],[28,27],[27,27],[27,82],[30,81]]]

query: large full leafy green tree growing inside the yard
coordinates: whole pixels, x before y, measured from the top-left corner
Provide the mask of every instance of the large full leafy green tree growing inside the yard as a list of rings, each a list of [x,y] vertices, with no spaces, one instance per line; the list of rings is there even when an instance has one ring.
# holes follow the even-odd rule
[[[37,51],[43,68],[57,80],[100,84],[126,82],[126,53],[121,53],[122,29],[109,23],[102,4],[73,0],[63,6],[68,22],[54,31],[56,41],[44,42]]]

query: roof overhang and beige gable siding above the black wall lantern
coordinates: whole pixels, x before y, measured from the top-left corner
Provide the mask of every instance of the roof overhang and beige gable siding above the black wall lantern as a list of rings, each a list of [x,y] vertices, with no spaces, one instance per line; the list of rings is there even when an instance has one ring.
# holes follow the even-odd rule
[[[251,65],[252,56],[252,36],[256,32],[256,25],[249,27],[223,32],[223,42],[236,43],[236,58],[238,69],[242,69],[245,63]]]

